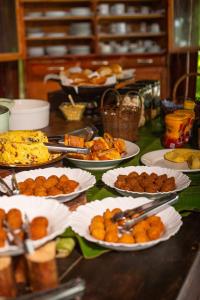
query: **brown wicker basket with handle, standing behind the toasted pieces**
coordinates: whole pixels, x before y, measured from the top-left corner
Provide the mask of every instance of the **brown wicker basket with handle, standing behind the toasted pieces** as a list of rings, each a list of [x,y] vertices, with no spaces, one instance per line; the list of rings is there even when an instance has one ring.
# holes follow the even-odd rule
[[[127,103],[127,99],[137,97],[137,103]],[[108,89],[101,98],[101,117],[104,132],[113,137],[123,138],[129,141],[138,139],[138,124],[141,115],[142,102],[139,95],[128,92],[120,95],[115,89]]]

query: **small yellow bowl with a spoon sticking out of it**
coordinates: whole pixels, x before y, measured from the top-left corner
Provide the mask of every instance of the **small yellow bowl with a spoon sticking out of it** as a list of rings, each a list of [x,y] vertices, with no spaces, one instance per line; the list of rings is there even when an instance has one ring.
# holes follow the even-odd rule
[[[75,105],[62,103],[59,109],[68,121],[80,121],[85,111],[85,103],[77,103]]]

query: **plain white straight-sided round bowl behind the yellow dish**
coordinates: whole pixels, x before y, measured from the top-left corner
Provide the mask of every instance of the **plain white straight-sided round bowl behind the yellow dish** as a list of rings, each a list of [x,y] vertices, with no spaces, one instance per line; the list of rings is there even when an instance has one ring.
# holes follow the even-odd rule
[[[36,130],[49,124],[50,105],[36,99],[15,99],[10,108],[10,130]]]

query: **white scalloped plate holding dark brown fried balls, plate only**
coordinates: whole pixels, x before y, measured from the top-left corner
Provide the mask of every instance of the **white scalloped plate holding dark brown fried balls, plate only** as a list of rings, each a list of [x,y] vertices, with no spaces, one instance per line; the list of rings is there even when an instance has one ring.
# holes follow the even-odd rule
[[[141,174],[142,172],[146,172],[147,174],[151,174],[151,173],[156,173],[158,175],[166,174],[167,177],[174,177],[176,183],[176,189],[170,192],[139,193],[139,192],[126,191],[115,187],[114,183],[117,180],[118,175],[128,175],[133,171],[137,172],[138,174]],[[167,196],[171,193],[181,191],[187,188],[191,182],[189,177],[180,171],[175,171],[175,170],[160,168],[160,167],[143,167],[143,166],[141,167],[130,166],[126,168],[118,168],[118,169],[110,170],[103,174],[102,181],[109,187],[115,189],[118,193],[120,193],[123,196],[132,196],[132,197],[144,196],[151,199],[157,199],[162,196]]]

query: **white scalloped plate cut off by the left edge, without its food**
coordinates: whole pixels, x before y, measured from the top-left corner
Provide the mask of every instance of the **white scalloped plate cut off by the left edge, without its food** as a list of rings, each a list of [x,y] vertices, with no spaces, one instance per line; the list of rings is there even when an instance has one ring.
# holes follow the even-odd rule
[[[36,216],[44,216],[48,219],[48,235],[42,239],[33,241],[35,248],[54,239],[69,226],[68,219],[71,212],[65,205],[58,201],[50,199],[46,201],[41,197],[27,197],[23,195],[12,197],[3,196],[0,198],[0,208],[3,208],[6,212],[11,208],[18,208],[22,216],[24,213],[27,214],[30,221]],[[5,251],[14,249],[17,249],[17,247],[6,245],[0,248],[0,255],[3,255]]]

